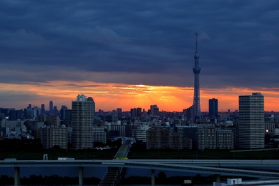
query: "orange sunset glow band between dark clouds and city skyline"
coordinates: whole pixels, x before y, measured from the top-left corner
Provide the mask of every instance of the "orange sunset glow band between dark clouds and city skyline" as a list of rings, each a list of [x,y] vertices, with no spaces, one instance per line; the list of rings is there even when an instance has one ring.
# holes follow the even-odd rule
[[[44,103],[48,109],[50,100],[58,109],[61,105],[66,105],[70,109],[71,100],[75,100],[78,94],[92,97],[96,103],[96,111],[98,109],[112,111],[116,108],[130,111],[134,107],[147,110],[151,104],[157,104],[160,111],[182,111],[193,104],[193,87],[108,84],[89,81],[52,81],[36,84],[0,84],[0,86],[2,94],[24,97],[21,101],[15,102],[5,100],[5,98],[1,100],[0,107],[15,107],[16,109],[27,107],[29,103],[38,107]],[[252,92],[255,91],[249,88],[201,88],[202,111],[208,111],[211,98],[218,99],[219,111],[227,111],[227,109],[234,111],[239,107],[239,95],[251,95]],[[257,88],[257,92],[264,95],[266,111],[279,111],[279,88]]]

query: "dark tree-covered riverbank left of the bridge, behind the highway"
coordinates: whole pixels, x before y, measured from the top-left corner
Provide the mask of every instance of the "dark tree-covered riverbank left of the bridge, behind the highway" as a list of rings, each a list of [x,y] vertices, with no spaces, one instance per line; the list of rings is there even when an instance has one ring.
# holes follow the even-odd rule
[[[101,144],[98,144],[101,145]],[[110,149],[63,149],[54,146],[50,149],[41,148],[38,139],[3,139],[0,140],[0,160],[6,158],[16,158],[17,160],[43,160],[43,155],[47,154],[49,160],[57,160],[57,157],[73,157],[75,160],[112,160],[119,146],[121,139],[108,141]]]

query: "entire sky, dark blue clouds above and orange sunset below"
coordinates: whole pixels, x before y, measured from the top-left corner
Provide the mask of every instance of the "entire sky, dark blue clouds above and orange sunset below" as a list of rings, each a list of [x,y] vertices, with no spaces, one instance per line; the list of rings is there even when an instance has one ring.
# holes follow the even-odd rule
[[[279,111],[277,0],[0,1],[0,107],[182,111],[193,104],[199,33],[202,111],[261,92]]]

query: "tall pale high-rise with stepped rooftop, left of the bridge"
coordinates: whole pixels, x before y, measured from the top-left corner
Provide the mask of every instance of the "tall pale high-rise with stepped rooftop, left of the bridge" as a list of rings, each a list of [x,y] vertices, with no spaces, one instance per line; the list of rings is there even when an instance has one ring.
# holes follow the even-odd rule
[[[95,104],[92,98],[77,95],[72,102],[72,144],[74,149],[93,148],[93,119]]]

